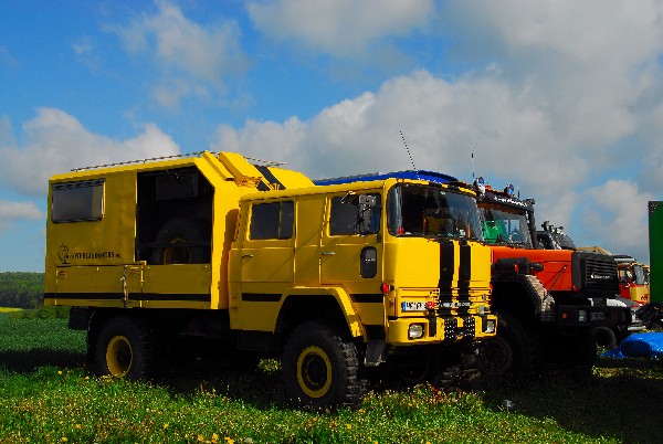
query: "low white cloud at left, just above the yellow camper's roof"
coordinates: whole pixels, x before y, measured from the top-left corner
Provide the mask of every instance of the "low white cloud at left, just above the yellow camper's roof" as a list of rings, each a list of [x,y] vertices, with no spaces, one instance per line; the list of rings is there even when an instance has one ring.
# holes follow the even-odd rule
[[[172,139],[152,124],[120,141],[88,131],[75,117],[55,108],[40,108],[23,125],[21,139],[21,146],[0,140],[0,183],[32,195],[44,194],[49,177],[72,168],[179,152]]]

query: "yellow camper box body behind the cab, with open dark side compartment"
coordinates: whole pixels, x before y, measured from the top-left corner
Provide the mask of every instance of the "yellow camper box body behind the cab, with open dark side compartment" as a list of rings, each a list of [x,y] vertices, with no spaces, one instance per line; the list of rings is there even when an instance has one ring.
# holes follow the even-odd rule
[[[312,184],[295,171],[261,168],[273,182],[231,152],[54,176],[49,187],[45,304],[228,308],[228,251],[239,198],[261,184]],[[197,203],[177,208],[187,200]],[[206,212],[199,224],[208,226],[197,226],[200,245],[191,246],[199,260],[187,261],[200,263],[175,261],[175,266],[155,260],[156,249],[167,246],[155,245],[168,222],[162,218],[188,220],[193,218],[189,211]],[[171,241],[177,245],[177,239]]]

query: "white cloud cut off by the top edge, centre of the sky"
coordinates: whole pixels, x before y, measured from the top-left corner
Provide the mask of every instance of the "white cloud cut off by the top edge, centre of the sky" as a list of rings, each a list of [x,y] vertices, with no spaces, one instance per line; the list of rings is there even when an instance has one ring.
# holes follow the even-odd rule
[[[335,55],[362,54],[371,42],[423,29],[432,0],[278,0],[250,2],[255,27],[270,38],[295,41]]]

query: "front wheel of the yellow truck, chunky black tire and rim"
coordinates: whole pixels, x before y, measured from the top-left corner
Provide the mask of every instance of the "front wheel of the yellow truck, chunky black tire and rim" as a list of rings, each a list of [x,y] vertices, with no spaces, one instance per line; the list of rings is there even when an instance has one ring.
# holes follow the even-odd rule
[[[285,394],[291,405],[333,410],[357,405],[366,384],[355,343],[324,323],[306,323],[288,337],[282,357]]]

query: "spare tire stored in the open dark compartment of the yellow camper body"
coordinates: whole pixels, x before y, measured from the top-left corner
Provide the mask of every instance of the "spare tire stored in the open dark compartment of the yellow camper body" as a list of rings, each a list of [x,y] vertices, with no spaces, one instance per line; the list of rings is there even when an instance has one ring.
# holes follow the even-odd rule
[[[194,223],[183,219],[171,219],[157,234],[155,243],[164,246],[152,250],[150,263],[154,265],[201,264],[204,262],[203,246],[178,246],[178,244],[202,242],[202,234]]]

